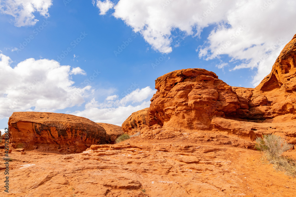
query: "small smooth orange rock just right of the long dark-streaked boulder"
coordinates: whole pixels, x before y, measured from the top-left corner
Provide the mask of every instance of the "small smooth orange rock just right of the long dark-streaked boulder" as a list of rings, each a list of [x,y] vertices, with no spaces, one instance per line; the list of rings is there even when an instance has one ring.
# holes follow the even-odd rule
[[[97,124],[106,130],[107,144],[115,144],[115,140],[124,133],[121,126],[107,124],[107,123],[97,123]]]

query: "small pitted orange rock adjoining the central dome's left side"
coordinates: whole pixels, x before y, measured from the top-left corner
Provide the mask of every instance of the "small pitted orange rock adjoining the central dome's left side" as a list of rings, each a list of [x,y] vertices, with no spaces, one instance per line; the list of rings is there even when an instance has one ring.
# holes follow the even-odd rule
[[[136,134],[141,131],[143,128],[146,128],[146,116],[149,108],[145,108],[139,110],[137,112],[132,113],[126,121],[122,123],[122,130],[124,133],[128,133],[129,135]]]

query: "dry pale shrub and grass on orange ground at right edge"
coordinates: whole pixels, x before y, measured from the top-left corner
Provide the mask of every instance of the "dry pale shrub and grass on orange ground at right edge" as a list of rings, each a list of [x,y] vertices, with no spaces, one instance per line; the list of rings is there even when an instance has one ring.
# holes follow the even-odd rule
[[[277,170],[286,171],[287,175],[296,177],[296,160],[282,156],[293,145],[276,135],[263,135],[256,138],[255,148],[262,152],[262,157],[274,165]]]

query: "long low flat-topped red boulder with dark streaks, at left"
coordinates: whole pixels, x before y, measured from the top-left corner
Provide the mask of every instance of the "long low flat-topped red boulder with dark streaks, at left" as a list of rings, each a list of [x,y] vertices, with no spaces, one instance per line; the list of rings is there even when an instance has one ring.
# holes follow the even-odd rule
[[[14,148],[77,153],[103,144],[106,131],[87,118],[46,112],[14,112],[8,121]]]

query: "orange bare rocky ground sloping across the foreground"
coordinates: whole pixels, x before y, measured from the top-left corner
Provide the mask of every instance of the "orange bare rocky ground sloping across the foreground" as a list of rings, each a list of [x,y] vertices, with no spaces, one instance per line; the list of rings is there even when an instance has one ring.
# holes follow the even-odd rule
[[[296,179],[245,147],[223,133],[157,128],[77,154],[12,151],[1,196],[294,196]]]

